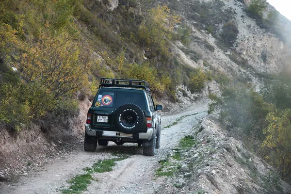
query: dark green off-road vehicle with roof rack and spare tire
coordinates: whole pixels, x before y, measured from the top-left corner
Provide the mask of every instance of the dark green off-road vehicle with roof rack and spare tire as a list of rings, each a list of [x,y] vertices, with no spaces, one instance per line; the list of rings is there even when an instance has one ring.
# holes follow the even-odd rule
[[[153,156],[160,147],[161,118],[149,83],[143,80],[102,78],[88,111],[84,150],[96,150],[109,141],[118,146],[137,143],[144,155]]]

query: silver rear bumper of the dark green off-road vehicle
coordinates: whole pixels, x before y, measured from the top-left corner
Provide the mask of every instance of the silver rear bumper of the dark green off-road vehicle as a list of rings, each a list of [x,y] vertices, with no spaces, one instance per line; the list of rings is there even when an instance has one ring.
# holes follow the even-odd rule
[[[127,134],[120,131],[110,131],[110,130],[99,130],[91,129],[89,124],[85,125],[85,130],[87,135],[97,138],[122,138],[122,139],[140,139],[140,140],[150,140],[153,135],[153,128],[147,128],[146,133],[137,133],[137,134]]]

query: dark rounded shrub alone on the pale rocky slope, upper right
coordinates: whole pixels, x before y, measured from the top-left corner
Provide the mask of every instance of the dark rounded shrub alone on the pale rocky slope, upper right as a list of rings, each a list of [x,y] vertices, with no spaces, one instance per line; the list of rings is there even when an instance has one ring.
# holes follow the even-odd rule
[[[229,21],[224,24],[221,37],[228,47],[232,47],[239,34],[239,29],[236,23]]]

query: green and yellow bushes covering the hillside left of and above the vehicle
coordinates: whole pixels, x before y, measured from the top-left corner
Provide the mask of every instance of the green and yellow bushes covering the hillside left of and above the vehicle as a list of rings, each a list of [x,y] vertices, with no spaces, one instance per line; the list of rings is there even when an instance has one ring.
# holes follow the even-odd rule
[[[1,126],[49,130],[60,115],[78,114],[78,100],[92,99],[101,77],[146,80],[156,97],[172,101],[180,83],[192,92],[204,87],[206,73],[171,52],[171,40],[190,43],[191,29],[167,5],[124,0],[108,11],[106,3],[0,2]]]

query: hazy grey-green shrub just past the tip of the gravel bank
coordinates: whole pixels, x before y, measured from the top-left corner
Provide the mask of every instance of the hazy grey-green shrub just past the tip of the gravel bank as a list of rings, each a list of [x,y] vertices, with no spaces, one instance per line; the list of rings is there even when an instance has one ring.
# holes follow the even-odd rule
[[[222,90],[221,97],[211,95],[209,113],[220,110],[220,119],[230,128],[242,128],[245,134],[255,133],[263,138],[261,129],[265,126],[265,117],[274,110],[272,104],[263,98],[252,87],[245,85],[229,86]]]

